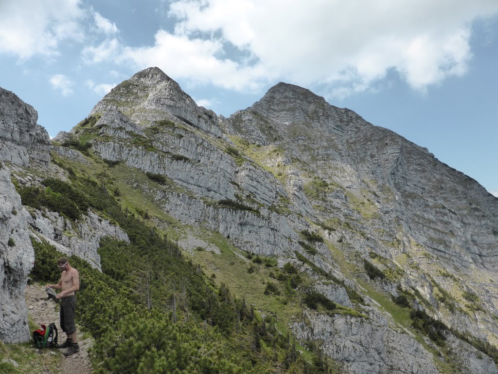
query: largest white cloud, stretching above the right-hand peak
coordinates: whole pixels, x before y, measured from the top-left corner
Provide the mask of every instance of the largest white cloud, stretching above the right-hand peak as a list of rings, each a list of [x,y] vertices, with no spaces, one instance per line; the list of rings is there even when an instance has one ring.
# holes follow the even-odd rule
[[[179,0],[170,7],[170,15],[179,20],[175,34],[163,42],[156,35],[154,46],[140,49],[145,52],[140,62],[152,65],[152,58],[166,54],[173,40],[202,44],[194,37],[221,34],[209,41],[218,48],[194,58],[223,87],[233,79],[240,89],[254,79],[279,78],[305,86],[329,83],[344,95],[367,89],[395,69],[423,91],[465,74],[472,57],[472,22],[497,13],[494,0],[310,0],[292,6],[279,0]],[[224,42],[257,60],[256,67],[220,57]],[[183,52],[182,57],[189,55]],[[248,72],[249,79],[237,78]],[[190,75],[207,79],[202,71]]]

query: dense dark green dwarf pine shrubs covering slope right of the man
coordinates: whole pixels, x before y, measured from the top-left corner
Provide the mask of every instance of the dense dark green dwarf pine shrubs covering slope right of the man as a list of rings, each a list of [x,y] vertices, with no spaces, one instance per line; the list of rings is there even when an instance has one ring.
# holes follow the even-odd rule
[[[331,372],[318,350],[311,356],[316,359],[305,360],[289,333],[279,332],[273,316],[261,316],[226,285],[217,285],[184,258],[175,243],[123,211],[97,182],[73,176],[72,185],[51,180],[44,185],[51,187],[45,187],[43,196],[56,194],[61,203],[51,205],[57,211],[77,218],[87,207],[99,209],[118,222],[131,241],[101,241],[102,273],[80,258],[70,258],[81,277],[78,322],[96,342],[95,373]],[[33,198],[29,189],[21,192],[25,204],[51,201]],[[69,203],[68,196],[77,198]],[[35,240],[33,247],[32,274],[55,282],[60,253]]]

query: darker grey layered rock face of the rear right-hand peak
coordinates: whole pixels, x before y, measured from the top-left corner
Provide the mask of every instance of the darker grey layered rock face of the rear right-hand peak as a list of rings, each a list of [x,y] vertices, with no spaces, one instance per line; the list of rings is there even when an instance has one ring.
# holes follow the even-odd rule
[[[362,209],[353,209],[355,218],[370,218],[371,225],[392,233],[401,224],[407,237],[444,257],[448,264],[498,270],[498,232],[494,229],[498,199],[393,132],[369,124],[350,110],[331,106],[306,89],[284,83],[233,115],[228,131],[249,143],[278,143],[289,158],[299,159],[328,184],[336,183],[342,187],[338,189],[345,187],[355,194],[365,191],[363,195],[371,201],[363,202],[372,212],[362,214]],[[368,181],[375,181],[375,186]],[[331,192],[316,202],[340,207],[352,200],[347,193]],[[317,210],[309,215],[330,219]],[[394,221],[394,225],[390,223]],[[375,232],[372,235],[377,236]]]

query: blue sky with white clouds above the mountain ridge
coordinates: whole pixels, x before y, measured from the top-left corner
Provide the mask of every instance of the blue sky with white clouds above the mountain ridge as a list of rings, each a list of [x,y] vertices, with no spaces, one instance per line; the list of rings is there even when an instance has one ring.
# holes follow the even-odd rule
[[[308,88],[498,196],[498,0],[0,0],[0,87],[51,137],[150,66],[225,117]]]

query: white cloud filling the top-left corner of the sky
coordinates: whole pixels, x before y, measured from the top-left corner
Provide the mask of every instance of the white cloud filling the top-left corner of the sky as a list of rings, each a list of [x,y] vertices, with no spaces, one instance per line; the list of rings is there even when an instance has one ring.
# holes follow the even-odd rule
[[[63,40],[82,41],[79,0],[0,1],[0,53],[56,56]]]

